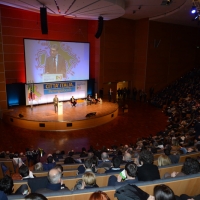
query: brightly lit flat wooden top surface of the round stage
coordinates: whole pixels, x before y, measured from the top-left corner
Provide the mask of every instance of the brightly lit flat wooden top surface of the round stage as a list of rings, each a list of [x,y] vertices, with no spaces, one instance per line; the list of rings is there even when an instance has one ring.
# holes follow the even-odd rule
[[[72,107],[69,102],[64,102],[61,121],[85,120],[86,115],[91,112],[96,112],[96,117],[102,117],[114,112],[116,109],[118,109],[118,104],[110,102],[88,106],[78,104],[76,107]],[[18,106],[10,109],[5,114],[14,118],[19,118],[19,114],[22,114],[22,120],[60,121],[58,113],[55,113],[53,104],[33,106],[33,109],[30,106]]]

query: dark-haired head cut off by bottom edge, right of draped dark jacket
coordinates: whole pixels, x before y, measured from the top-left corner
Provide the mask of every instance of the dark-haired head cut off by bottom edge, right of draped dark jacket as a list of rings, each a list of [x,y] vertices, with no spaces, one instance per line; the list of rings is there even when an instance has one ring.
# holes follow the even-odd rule
[[[154,187],[155,200],[176,200],[174,192],[167,185],[156,185]]]

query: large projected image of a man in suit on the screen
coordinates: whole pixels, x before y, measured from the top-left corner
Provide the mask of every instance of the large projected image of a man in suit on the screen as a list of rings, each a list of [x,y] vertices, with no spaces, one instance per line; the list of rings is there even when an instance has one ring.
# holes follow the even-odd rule
[[[26,82],[89,79],[89,43],[24,39]]]

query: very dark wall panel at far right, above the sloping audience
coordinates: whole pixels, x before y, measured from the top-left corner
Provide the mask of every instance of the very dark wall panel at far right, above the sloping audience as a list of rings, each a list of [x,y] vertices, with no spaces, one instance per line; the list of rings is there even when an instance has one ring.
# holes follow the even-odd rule
[[[180,78],[200,61],[197,46],[199,30],[150,21],[146,91],[155,91]],[[157,42],[157,47],[155,45]],[[160,41],[160,42],[159,42]]]

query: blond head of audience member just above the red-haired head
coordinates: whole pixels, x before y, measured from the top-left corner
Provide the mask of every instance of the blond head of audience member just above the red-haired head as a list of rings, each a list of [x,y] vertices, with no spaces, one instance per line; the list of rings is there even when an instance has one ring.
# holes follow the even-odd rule
[[[96,176],[92,172],[85,172],[82,176],[84,189],[98,188]]]

